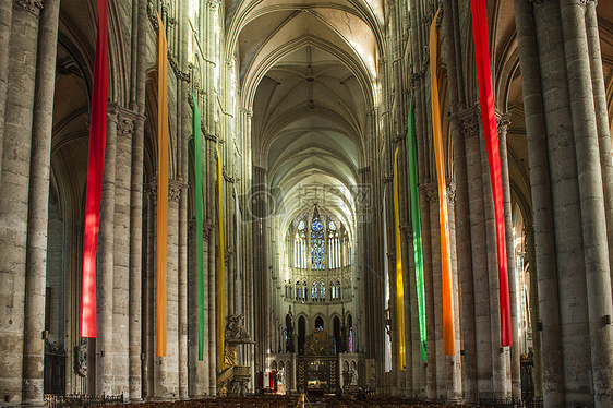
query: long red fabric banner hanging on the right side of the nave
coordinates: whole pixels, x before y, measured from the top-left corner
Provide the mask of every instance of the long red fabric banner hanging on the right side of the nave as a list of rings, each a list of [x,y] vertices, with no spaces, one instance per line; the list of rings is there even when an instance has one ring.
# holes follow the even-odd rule
[[[492,180],[492,193],[494,195],[501,297],[501,343],[503,347],[506,347],[513,344],[513,334],[510,332],[510,304],[508,298],[508,268],[506,263],[498,128],[496,125],[494,92],[492,87],[492,67],[490,63],[490,44],[488,40],[488,7],[485,0],[470,0],[470,4],[472,10],[472,32],[474,36],[474,56],[477,59],[481,119],[483,121],[483,133],[485,134],[485,146],[488,148],[488,160],[490,163],[490,178]]]

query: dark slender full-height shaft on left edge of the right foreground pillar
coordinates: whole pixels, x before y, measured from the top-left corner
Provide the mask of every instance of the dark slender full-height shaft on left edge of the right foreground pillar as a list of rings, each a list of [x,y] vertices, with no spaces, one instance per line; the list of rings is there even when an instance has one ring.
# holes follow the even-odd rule
[[[533,263],[536,274],[532,274],[532,278],[538,279],[538,308],[542,312],[542,332],[534,331],[537,340],[542,341],[542,353],[534,352],[534,360],[540,359],[542,361],[544,405],[563,407],[564,375],[563,371],[560,370],[562,367],[562,333],[560,327],[552,191],[542,84],[537,53],[538,40],[532,11],[529,0],[515,1],[515,23],[521,68],[521,88],[530,165],[530,191],[534,219],[533,237],[537,251],[534,254],[536,262]],[[546,52],[543,52],[544,56],[546,56]],[[537,322],[533,322],[533,324],[537,324]],[[539,380],[536,380],[536,383]]]

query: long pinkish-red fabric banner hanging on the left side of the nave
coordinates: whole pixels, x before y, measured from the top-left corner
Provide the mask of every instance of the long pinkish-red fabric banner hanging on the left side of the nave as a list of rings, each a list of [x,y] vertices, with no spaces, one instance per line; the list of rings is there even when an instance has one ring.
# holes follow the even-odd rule
[[[81,288],[81,337],[96,337],[96,249],[100,223],[100,197],[107,143],[108,16],[107,0],[98,0],[98,33],[94,61],[94,86],[89,119],[89,152],[85,192],[83,233],[83,277]]]

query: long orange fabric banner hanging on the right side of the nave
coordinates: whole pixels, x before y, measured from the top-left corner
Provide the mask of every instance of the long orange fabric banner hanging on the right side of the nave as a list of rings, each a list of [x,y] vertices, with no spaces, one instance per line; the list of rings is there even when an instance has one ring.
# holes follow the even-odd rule
[[[440,11],[440,10],[438,10]],[[449,247],[449,223],[447,215],[447,182],[445,179],[445,154],[443,132],[441,131],[441,111],[438,103],[438,11],[430,25],[430,87],[432,92],[432,130],[434,139],[434,157],[438,179],[438,214],[441,224],[441,266],[443,277],[443,352],[456,353],[454,327],[454,292],[452,291],[452,252]]]

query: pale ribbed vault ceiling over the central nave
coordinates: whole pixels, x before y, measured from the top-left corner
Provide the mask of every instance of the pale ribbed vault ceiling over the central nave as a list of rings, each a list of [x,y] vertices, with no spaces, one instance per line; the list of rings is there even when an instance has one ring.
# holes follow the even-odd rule
[[[377,103],[381,0],[226,1],[255,166],[281,217],[313,205],[353,235],[358,170]]]

